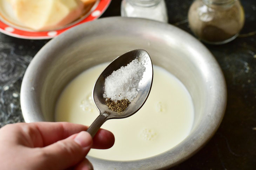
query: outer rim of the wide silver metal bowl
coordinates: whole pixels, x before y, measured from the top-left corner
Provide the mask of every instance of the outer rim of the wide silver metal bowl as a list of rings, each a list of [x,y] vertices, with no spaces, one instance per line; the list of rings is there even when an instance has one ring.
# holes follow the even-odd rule
[[[23,117],[26,122],[32,122],[34,120],[33,120],[33,117],[31,116],[31,113],[39,111],[39,108],[34,108],[34,106],[31,106],[31,104],[26,103],[26,101],[33,101],[34,99],[33,98],[34,93],[31,91],[31,86],[28,86],[28,84],[29,83],[31,84],[29,80],[31,79],[31,76],[32,77],[34,76],[35,69],[38,69],[41,66],[41,63],[46,60],[46,57],[44,56],[45,51],[49,50],[50,48],[56,47],[56,44],[63,42],[64,38],[67,38],[67,37],[72,38],[73,32],[82,31],[88,27],[98,26],[101,24],[104,24],[106,26],[106,24],[111,25],[117,22],[120,22],[122,24],[127,24],[127,26],[129,25],[130,22],[147,24],[149,26],[150,24],[153,24],[153,25],[157,24],[159,27],[163,27],[164,29],[170,29],[175,33],[182,34],[183,37],[186,37],[191,47],[196,46],[197,48],[200,49],[200,52],[207,54],[206,57],[203,58],[203,61],[205,62],[203,64],[214,67],[215,77],[213,77],[213,79],[218,80],[218,83],[219,83],[219,86],[216,86],[216,89],[217,89],[216,91],[218,92],[218,94],[220,94],[220,96],[218,96],[219,102],[215,102],[216,111],[214,113],[215,115],[213,115],[215,117],[208,118],[208,119],[213,118],[213,120],[211,120],[211,124],[209,125],[209,127],[204,128],[203,131],[201,130],[201,132],[198,131],[196,133],[197,134],[196,136],[189,135],[186,139],[184,139],[182,142],[177,144],[177,146],[175,146],[174,148],[171,148],[170,150],[162,154],[144,158],[141,160],[134,160],[134,161],[109,161],[109,160],[102,160],[102,159],[94,158],[90,156],[87,156],[87,158],[93,164],[97,164],[97,165],[101,164],[102,168],[104,168],[104,166],[106,165],[110,165],[110,163],[112,164],[111,166],[113,166],[114,168],[121,168],[121,167],[132,168],[130,167],[130,165],[133,165],[134,167],[142,167],[142,169],[166,169],[166,168],[173,167],[174,165],[177,165],[187,160],[189,157],[193,156],[211,139],[211,137],[213,137],[213,135],[217,131],[223,119],[226,104],[227,104],[227,88],[225,84],[224,75],[214,56],[200,41],[198,41],[196,38],[191,36],[189,33],[173,25],[161,23],[158,21],[148,20],[148,19],[128,18],[128,17],[119,17],[119,16],[105,17],[89,23],[81,24],[77,27],[74,27],[66,31],[60,36],[50,40],[45,46],[42,47],[42,49],[32,59],[31,63],[29,64],[25,72],[25,76],[22,80],[20,98],[21,98],[21,110],[22,110]],[[208,69],[208,67],[206,68]],[[190,143],[193,143],[193,145],[191,146]],[[187,146],[187,147],[184,148],[181,146]],[[175,157],[171,157],[170,159],[170,155],[175,155]],[[148,165],[150,165],[150,167]]]

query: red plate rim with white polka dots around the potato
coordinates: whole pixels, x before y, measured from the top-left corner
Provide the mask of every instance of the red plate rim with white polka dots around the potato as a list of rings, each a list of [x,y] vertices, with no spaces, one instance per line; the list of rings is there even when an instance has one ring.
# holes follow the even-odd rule
[[[4,17],[1,17],[0,15],[0,32],[17,37],[17,38],[24,38],[24,39],[33,39],[33,40],[41,40],[41,39],[50,39],[55,36],[58,36],[59,34],[63,33],[64,31],[77,26],[81,23],[93,21],[97,18],[99,18],[103,12],[107,9],[109,6],[111,0],[97,0],[93,7],[90,9],[89,12],[81,19],[78,19],[70,24],[68,24],[65,27],[62,27],[60,29],[56,30],[48,30],[48,31],[33,31],[27,28],[19,27],[11,22],[8,22],[4,19]]]

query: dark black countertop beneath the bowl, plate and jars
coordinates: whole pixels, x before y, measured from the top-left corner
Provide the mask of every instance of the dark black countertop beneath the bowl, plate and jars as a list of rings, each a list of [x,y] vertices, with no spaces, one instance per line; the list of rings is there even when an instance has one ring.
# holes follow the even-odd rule
[[[112,0],[101,17],[120,15],[120,0]],[[188,31],[192,0],[166,0],[169,23]],[[224,45],[206,45],[227,82],[228,103],[213,138],[174,170],[256,170],[256,1],[241,0],[245,26],[241,35]],[[48,40],[23,40],[0,33],[0,127],[24,121],[20,109],[23,74]]]

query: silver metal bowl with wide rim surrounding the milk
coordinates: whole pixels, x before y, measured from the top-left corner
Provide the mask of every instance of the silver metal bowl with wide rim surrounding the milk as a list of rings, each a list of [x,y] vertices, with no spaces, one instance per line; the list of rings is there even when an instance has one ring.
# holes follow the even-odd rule
[[[48,42],[23,78],[21,109],[25,121],[54,121],[56,100],[74,77],[133,49],[148,51],[153,64],[168,70],[186,86],[194,103],[193,128],[177,146],[153,157],[135,161],[88,159],[99,170],[167,169],[186,160],[206,144],[221,123],[227,102],[225,80],[202,43],[181,29],[157,21],[103,18]]]

